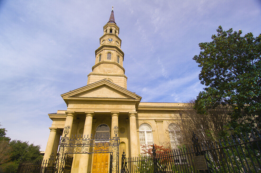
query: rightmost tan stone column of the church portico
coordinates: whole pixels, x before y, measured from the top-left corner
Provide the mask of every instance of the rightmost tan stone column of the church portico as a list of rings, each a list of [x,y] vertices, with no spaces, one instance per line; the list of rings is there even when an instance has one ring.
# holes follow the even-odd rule
[[[137,125],[136,125],[137,112],[129,112],[130,120],[130,137],[131,137],[131,157],[138,155],[138,142],[137,142]]]

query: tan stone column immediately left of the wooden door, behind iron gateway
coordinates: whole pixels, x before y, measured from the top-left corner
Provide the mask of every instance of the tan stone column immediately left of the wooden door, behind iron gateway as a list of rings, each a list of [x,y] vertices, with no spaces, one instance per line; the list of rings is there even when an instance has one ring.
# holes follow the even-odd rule
[[[84,130],[82,136],[87,138],[87,135],[91,137],[92,133],[92,117],[94,116],[94,112],[85,112],[85,123]],[[86,173],[88,169],[88,154],[81,154],[80,162],[79,162],[79,170],[78,172]]]

